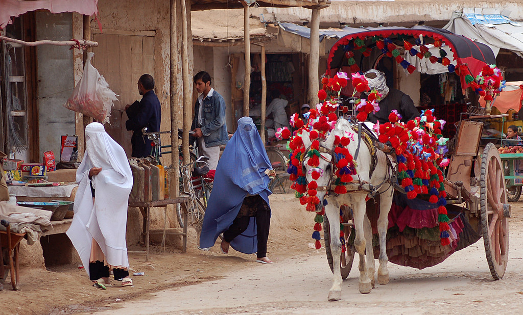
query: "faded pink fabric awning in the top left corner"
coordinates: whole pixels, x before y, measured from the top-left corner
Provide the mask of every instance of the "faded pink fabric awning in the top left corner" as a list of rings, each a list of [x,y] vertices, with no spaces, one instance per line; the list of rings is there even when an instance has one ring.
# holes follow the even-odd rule
[[[47,9],[51,13],[77,12],[92,16],[98,13],[97,3],[98,0],[0,0],[0,29],[11,22],[11,17],[38,9]]]

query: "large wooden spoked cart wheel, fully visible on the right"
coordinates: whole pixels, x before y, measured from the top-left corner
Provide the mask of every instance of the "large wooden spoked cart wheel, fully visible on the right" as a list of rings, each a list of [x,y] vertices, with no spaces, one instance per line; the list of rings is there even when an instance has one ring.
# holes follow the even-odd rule
[[[505,274],[508,261],[508,204],[505,176],[493,143],[483,150],[481,162],[480,215],[483,243],[494,280]]]

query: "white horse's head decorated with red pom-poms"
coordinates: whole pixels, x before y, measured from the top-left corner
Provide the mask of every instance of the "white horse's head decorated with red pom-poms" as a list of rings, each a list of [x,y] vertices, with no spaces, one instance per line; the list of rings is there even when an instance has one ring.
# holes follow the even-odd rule
[[[315,149],[312,146],[312,141],[309,138],[309,133],[304,132],[302,135],[303,144],[305,149],[304,159],[302,161],[302,171],[305,174],[308,183],[308,190],[316,190],[316,197],[319,199],[319,203],[316,204],[315,211],[321,211],[323,207],[323,200],[325,198],[327,190],[331,186],[333,178],[333,167],[332,164],[332,146],[331,136],[327,139],[320,141],[319,148]],[[309,156],[311,155],[311,156]],[[312,182],[317,184],[317,188],[310,187]],[[309,193],[311,196],[311,193]],[[308,206],[309,207],[309,206]],[[313,209],[308,209],[313,210]]]

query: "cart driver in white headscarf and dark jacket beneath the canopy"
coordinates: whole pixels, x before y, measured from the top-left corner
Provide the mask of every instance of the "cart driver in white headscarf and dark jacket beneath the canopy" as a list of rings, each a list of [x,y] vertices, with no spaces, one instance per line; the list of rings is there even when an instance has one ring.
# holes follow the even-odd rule
[[[370,69],[365,72],[365,77],[369,82],[371,90],[376,89],[382,94],[380,101],[380,110],[376,114],[369,114],[368,120],[374,124],[389,122],[389,114],[396,110],[401,115],[401,121],[406,123],[408,120],[419,116],[419,111],[414,102],[407,94],[400,90],[389,88],[386,84],[385,75],[383,72],[376,69]]]

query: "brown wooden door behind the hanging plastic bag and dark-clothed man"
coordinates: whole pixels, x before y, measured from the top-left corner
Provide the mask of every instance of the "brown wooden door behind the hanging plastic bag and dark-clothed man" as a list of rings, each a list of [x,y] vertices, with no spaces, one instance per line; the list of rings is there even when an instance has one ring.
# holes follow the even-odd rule
[[[138,93],[141,75],[150,74],[154,78],[154,32],[147,33],[93,34],[93,39],[98,42],[98,47],[93,49],[93,65],[107,80],[111,90],[119,95],[105,128],[120,143],[127,156],[131,156],[132,132],[126,130],[128,118],[123,108],[141,100]]]

